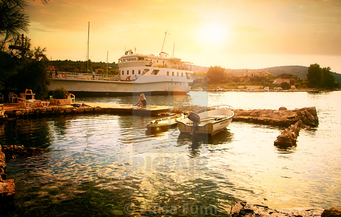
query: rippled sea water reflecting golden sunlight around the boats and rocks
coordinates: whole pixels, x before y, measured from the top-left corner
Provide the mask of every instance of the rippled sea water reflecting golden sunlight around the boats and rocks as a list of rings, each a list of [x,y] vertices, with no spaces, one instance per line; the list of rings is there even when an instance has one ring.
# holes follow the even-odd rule
[[[204,92],[146,96],[151,105],[240,109],[315,106],[316,128],[273,145],[280,127],[232,122],[212,137],[146,131],[148,116],[66,115],[0,126],[2,145],[44,148],[7,162],[9,216],[226,216],[243,200],[292,212],[341,206],[341,92]],[[77,98],[132,104],[137,97]]]

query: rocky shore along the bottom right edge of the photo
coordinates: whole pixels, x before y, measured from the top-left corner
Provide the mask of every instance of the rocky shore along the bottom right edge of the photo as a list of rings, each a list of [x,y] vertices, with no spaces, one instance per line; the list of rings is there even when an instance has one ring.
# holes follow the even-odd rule
[[[323,213],[316,210],[306,210],[305,212],[289,213],[270,209],[268,206],[249,204],[247,202],[237,202],[231,207],[231,217],[341,217],[341,208],[331,207],[325,209]]]

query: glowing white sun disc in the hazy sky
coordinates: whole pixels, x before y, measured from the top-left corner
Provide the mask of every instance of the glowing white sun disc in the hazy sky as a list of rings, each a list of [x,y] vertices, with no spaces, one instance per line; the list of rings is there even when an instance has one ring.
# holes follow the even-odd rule
[[[199,27],[198,38],[205,44],[220,44],[227,36],[225,26],[221,24],[205,24]]]

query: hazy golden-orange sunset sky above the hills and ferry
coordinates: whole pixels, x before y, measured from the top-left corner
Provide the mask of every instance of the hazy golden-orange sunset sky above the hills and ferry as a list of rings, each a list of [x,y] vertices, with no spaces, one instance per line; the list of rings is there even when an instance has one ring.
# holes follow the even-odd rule
[[[340,0],[50,0],[25,12],[32,46],[52,60],[118,62],[126,50],[164,52],[200,66],[318,63],[341,73]]]

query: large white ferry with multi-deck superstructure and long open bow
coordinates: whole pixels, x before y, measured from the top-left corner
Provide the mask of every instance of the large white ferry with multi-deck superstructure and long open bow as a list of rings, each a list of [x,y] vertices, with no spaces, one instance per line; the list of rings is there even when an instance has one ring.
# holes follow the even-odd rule
[[[167,33],[167,32],[166,32]],[[166,38],[166,36],[165,36]],[[63,86],[78,96],[181,95],[190,91],[193,63],[159,55],[125,51],[118,62],[118,75],[59,72],[51,75],[50,90]]]

